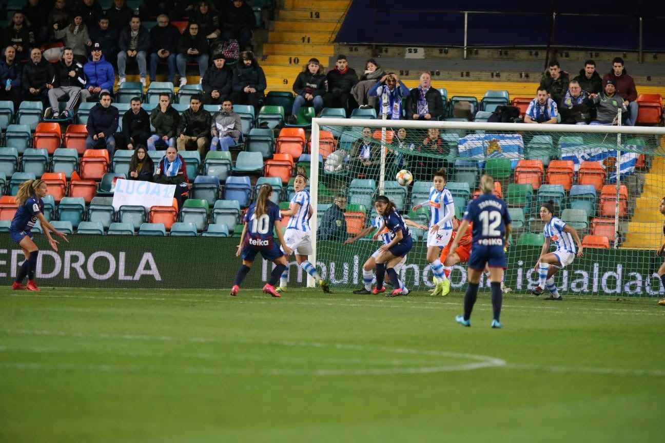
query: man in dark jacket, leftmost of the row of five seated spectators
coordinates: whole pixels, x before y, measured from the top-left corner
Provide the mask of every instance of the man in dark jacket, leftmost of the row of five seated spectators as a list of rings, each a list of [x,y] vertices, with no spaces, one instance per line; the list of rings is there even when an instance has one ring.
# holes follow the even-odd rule
[[[92,106],[88,115],[86,149],[106,149],[108,157],[112,158],[116,149],[113,134],[118,130],[119,117],[118,108],[111,106],[110,92],[103,90],[99,94],[99,103]]]

